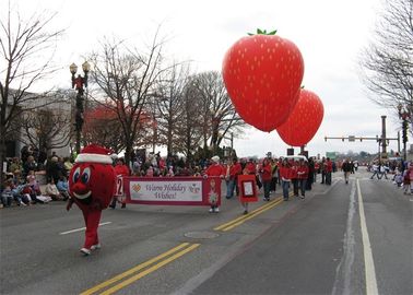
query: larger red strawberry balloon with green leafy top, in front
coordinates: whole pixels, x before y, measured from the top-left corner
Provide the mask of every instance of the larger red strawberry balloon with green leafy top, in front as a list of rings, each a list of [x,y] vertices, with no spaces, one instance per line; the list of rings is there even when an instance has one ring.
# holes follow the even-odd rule
[[[293,110],[304,75],[302,54],[275,31],[258,30],[226,52],[223,79],[235,109],[262,131],[281,126]]]

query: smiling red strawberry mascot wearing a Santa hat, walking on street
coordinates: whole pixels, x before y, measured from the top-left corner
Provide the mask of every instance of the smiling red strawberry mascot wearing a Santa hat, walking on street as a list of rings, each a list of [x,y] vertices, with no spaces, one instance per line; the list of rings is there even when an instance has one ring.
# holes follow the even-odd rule
[[[67,209],[73,202],[82,210],[86,225],[85,241],[81,252],[91,255],[91,250],[101,248],[97,227],[102,210],[111,200],[116,186],[116,174],[113,167],[110,151],[91,144],[78,155],[69,175],[69,191],[71,199]]]

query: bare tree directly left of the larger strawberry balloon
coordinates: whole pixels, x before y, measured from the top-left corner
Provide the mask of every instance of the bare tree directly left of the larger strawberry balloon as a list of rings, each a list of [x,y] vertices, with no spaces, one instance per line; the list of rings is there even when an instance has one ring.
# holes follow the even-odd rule
[[[192,83],[202,102],[199,115],[203,120],[203,146],[216,153],[225,135],[231,132],[239,134],[247,125],[236,113],[221,73],[200,73]]]

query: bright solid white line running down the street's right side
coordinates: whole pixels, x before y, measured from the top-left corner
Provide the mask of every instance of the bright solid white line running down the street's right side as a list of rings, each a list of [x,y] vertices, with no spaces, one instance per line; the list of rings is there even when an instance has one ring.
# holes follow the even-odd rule
[[[371,245],[368,237],[366,215],[364,214],[362,190],[359,189],[359,181],[357,179],[357,192],[358,192],[358,211],[359,223],[362,227],[363,249],[364,249],[364,266],[366,271],[366,294],[378,294],[375,261],[373,260]]]

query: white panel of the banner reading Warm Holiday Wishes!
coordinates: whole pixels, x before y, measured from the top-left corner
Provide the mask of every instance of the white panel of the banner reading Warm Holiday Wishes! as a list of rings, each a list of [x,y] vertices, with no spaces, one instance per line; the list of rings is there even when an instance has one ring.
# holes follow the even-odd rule
[[[202,201],[202,179],[199,180],[131,180],[129,184],[132,201]],[[172,178],[173,179],[173,178]]]

